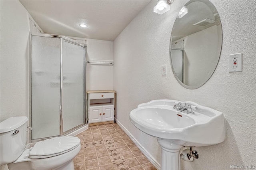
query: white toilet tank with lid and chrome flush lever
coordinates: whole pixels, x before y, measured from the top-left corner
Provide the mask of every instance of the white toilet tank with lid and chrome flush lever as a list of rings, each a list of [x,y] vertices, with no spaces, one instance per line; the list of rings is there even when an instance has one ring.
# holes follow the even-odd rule
[[[28,117],[10,117],[0,123],[0,166],[14,162],[26,147]],[[15,134],[16,132],[16,134]]]

